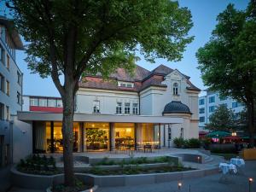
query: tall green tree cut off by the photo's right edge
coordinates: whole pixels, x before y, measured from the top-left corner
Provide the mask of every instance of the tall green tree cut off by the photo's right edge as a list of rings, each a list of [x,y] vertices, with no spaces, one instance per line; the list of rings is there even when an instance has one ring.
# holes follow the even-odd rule
[[[222,96],[231,96],[245,103],[252,147],[256,103],[255,11],[255,0],[244,11],[229,4],[218,15],[218,24],[210,41],[196,53],[204,83]]]

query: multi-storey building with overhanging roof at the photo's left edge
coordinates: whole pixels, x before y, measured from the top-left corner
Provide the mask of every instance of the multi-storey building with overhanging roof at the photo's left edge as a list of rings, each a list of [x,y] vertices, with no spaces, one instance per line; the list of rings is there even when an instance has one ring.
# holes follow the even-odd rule
[[[10,117],[21,110],[22,73],[15,61],[15,50],[24,49],[10,20],[0,16],[0,167],[12,156]]]

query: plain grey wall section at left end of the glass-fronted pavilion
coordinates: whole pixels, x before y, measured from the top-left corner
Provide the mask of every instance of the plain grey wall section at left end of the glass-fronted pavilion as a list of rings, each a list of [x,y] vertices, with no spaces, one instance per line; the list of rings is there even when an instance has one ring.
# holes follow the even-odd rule
[[[32,154],[32,123],[25,123],[14,116],[13,130],[13,160],[14,163]]]

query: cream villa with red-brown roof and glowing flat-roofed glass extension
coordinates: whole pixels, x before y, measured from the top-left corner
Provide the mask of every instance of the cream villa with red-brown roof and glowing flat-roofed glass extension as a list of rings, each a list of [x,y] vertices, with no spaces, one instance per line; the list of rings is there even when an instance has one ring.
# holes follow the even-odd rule
[[[188,76],[164,65],[153,71],[137,66],[133,76],[119,68],[108,81],[100,74],[88,75],[79,83],[75,98],[74,151],[145,144],[162,148],[171,147],[175,137],[196,138],[199,93]],[[18,119],[15,126],[24,132],[23,155],[63,150],[62,113],[19,112]]]

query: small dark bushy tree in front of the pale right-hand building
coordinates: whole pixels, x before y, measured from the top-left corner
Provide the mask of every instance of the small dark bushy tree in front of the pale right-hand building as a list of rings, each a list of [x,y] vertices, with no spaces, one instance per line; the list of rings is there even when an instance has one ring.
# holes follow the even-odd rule
[[[235,113],[225,105],[220,105],[209,117],[207,129],[211,131],[233,131],[236,129]]]

